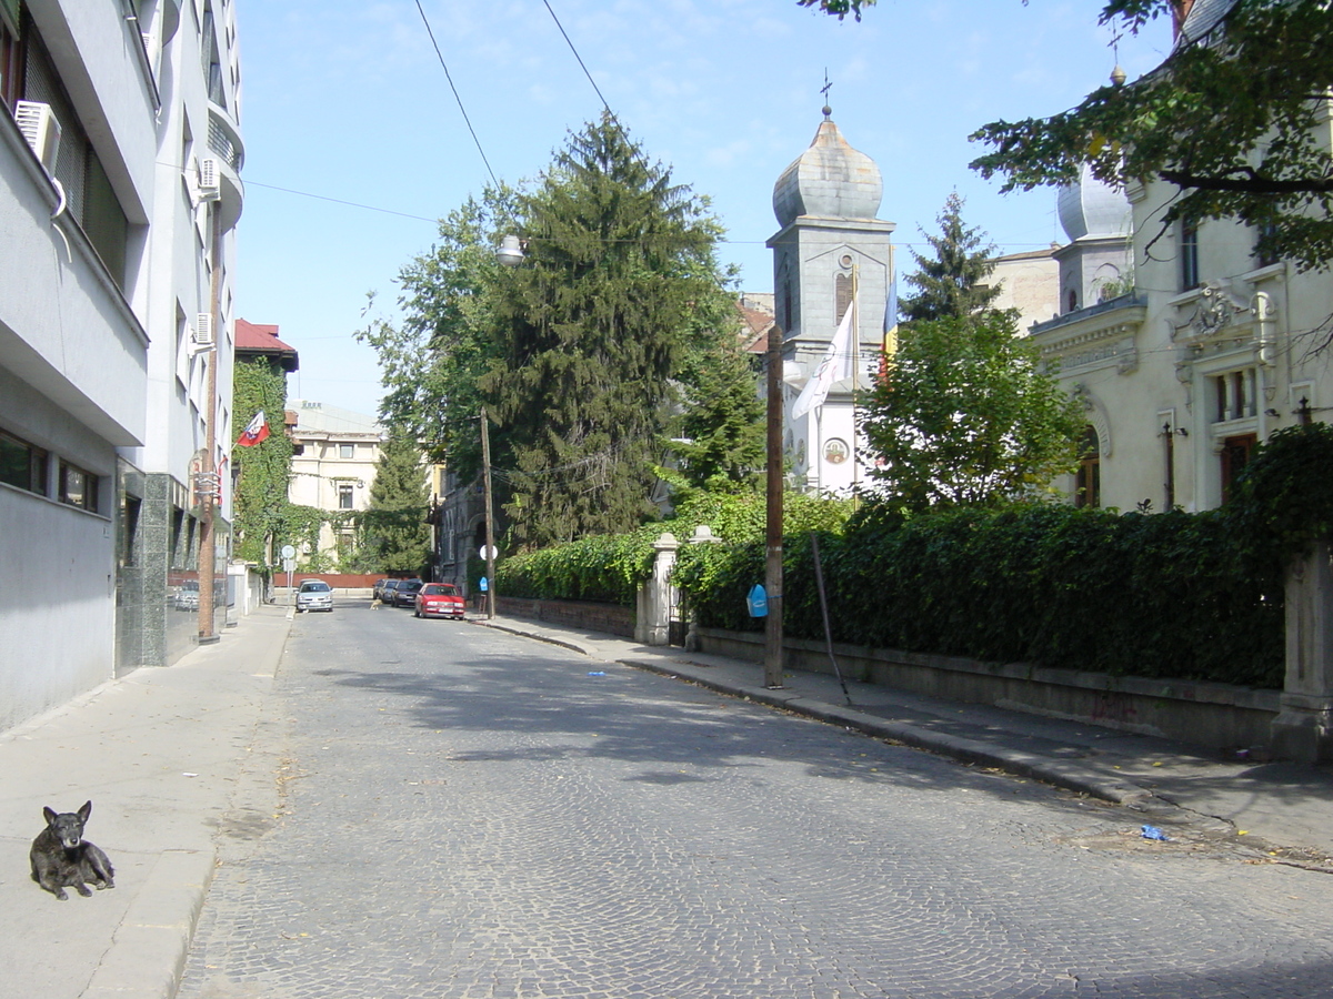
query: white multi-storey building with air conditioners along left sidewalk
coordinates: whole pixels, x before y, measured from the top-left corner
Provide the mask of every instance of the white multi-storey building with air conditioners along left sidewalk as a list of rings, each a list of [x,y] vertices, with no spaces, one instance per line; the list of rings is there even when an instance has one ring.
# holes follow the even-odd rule
[[[200,631],[239,92],[231,0],[0,0],[0,729]]]

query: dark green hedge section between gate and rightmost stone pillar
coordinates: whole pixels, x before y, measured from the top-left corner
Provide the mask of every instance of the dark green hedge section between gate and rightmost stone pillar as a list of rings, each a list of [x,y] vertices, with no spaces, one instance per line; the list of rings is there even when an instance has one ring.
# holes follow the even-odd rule
[[[821,534],[833,639],[1140,677],[1282,685],[1282,586],[1241,573],[1222,515],[1034,506]],[[760,630],[761,543],[682,551],[705,626]],[[809,537],[784,547],[784,631],[822,639]]]

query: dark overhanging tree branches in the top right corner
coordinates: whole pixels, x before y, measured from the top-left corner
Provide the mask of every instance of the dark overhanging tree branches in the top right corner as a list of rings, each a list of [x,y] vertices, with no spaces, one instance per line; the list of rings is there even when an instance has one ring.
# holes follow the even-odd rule
[[[1101,21],[1137,31],[1180,23],[1184,0],[1112,0]],[[1090,164],[1117,185],[1161,180],[1176,220],[1238,218],[1258,253],[1300,269],[1333,258],[1333,17],[1326,0],[1233,0],[1198,37],[1128,85],[1100,87],[1050,117],[994,121],[973,135],[992,147],[972,165],[1004,190],[1065,184]],[[1197,33],[1197,32],[1196,32]]]

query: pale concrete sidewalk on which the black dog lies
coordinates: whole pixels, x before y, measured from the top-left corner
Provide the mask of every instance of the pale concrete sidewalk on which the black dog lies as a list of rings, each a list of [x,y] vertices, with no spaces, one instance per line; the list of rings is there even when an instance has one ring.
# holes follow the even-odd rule
[[[291,622],[261,606],[217,645],[140,669],[0,737],[0,967],[4,995],[169,999],[213,876],[237,787],[272,783],[253,761]],[[41,809],[92,799],[88,838],[116,887],[59,902],[29,876]],[[253,817],[256,823],[271,815]],[[257,835],[259,829],[248,834]]]

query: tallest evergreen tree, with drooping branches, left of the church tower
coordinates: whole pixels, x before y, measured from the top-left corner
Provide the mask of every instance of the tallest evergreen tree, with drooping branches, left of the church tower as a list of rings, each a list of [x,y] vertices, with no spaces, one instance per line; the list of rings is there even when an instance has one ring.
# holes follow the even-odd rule
[[[528,256],[496,294],[496,400],[520,542],[629,530],[669,420],[692,310],[720,284],[706,202],[609,113],[520,197]]]

